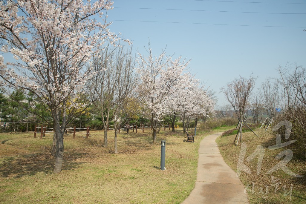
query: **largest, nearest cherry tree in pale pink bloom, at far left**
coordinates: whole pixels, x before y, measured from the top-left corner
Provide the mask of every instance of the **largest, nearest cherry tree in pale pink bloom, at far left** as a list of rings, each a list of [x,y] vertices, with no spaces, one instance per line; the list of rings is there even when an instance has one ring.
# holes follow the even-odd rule
[[[91,57],[99,55],[106,41],[116,45],[119,40],[109,31],[103,13],[112,4],[108,0],[2,1],[1,50],[13,54],[16,62],[5,63],[0,56],[1,85],[30,91],[47,104],[56,139],[55,173],[62,169],[67,109],[87,106],[77,96],[95,74]]]

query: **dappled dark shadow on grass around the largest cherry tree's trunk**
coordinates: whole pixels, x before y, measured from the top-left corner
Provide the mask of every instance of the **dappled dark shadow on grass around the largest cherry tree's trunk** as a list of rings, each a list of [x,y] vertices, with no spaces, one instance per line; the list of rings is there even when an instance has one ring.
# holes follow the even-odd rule
[[[84,162],[76,162],[78,158],[92,157],[89,153],[64,152],[64,162],[62,170],[72,170],[78,168]],[[2,177],[13,176],[21,178],[32,176],[38,172],[52,174],[55,158],[49,153],[26,154],[18,157],[9,157],[2,161],[0,175]]]

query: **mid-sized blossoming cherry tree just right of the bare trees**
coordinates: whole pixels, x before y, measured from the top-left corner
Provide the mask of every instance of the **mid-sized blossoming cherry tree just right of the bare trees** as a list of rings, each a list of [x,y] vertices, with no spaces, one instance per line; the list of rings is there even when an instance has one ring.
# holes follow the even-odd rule
[[[175,100],[171,97],[175,92],[185,88],[189,73],[184,73],[189,61],[181,61],[181,57],[172,60],[163,51],[153,57],[149,44],[148,57],[139,53],[140,75],[147,94],[144,98],[146,116],[151,120],[153,143],[156,143],[158,124],[171,112]]]

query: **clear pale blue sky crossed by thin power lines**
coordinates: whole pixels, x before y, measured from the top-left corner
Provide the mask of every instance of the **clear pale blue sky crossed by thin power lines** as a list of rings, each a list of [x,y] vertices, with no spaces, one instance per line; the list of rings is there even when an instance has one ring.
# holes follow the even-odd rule
[[[208,80],[207,84],[211,84],[211,89],[217,92],[218,104],[223,105],[226,99],[219,93],[220,87],[239,75],[248,77],[253,72],[258,76],[257,89],[267,77],[278,77],[278,65],[296,62],[306,66],[306,32],[303,31],[306,29],[306,14],[272,14],[306,13],[306,1],[236,1],[271,3],[114,0],[114,9],[107,14],[108,20],[113,22],[110,30],[121,32],[124,38],[131,39],[135,53],[139,50],[146,54],[144,47],[147,47],[150,38],[154,54],[160,54],[167,46],[167,54],[175,53],[175,57],[181,55],[192,59],[189,64],[191,72],[202,81]]]

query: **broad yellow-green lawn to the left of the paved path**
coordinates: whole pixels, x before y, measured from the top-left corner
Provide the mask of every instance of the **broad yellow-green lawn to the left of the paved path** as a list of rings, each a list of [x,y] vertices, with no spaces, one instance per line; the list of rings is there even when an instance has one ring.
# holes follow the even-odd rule
[[[227,127],[217,128],[221,132]],[[52,135],[33,138],[34,133],[0,133],[1,203],[181,203],[195,185],[198,148],[204,136],[197,132],[195,143],[182,129],[176,134],[161,131],[166,140],[166,171],[161,171],[160,142],[153,144],[151,131],[118,134],[114,153],[114,132],[102,147],[103,131],[65,136],[62,172],[53,173],[50,154]]]

